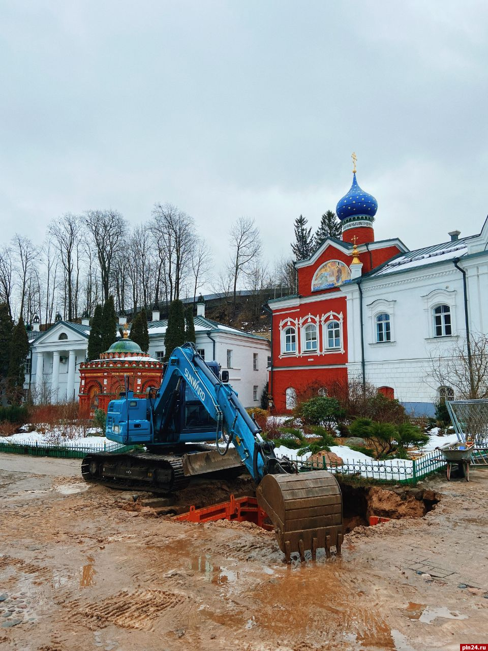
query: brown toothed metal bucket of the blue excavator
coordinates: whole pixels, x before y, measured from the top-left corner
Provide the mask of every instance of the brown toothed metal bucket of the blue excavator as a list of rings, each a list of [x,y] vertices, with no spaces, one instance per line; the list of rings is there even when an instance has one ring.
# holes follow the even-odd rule
[[[331,547],[338,555],[342,545],[342,494],[336,478],[326,470],[295,475],[265,475],[256,489],[258,505],[273,525],[287,563],[298,552],[305,561],[310,549],[312,561],[317,549]]]

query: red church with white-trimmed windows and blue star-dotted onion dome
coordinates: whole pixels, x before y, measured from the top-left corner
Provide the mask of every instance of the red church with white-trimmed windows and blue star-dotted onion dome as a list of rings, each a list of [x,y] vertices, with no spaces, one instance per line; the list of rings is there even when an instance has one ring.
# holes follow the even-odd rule
[[[269,301],[272,365],[270,407],[291,409],[306,387],[347,382],[347,311],[341,286],[407,248],[398,239],[375,242],[376,199],[353,184],[337,204],[342,240],[327,238],[306,260],[295,262],[297,294]]]

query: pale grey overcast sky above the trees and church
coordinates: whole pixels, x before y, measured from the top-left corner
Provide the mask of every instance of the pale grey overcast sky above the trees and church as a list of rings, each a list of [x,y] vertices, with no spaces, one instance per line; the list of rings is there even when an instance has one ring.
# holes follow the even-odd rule
[[[256,219],[273,258],[358,182],[377,239],[479,232],[488,213],[488,3],[0,0],[0,218],[154,202],[214,255]]]

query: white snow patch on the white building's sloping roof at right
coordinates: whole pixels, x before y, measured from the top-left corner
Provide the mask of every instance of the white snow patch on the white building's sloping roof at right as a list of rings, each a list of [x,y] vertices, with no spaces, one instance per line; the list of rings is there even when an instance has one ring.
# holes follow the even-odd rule
[[[377,270],[373,270],[368,274],[368,277],[386,275],[388,273],[395,273],[396,271],[408,271],[416,267],[425,266],[426,264],[436,264],[437,262],[446,262],[446,260],[460,258],[468,253],[467,242],[474,237],[476,236],[471,235],[452,242],[443,242],[442,244],[427,246],[423,249],[414,249],[414,251],[401,253]]]

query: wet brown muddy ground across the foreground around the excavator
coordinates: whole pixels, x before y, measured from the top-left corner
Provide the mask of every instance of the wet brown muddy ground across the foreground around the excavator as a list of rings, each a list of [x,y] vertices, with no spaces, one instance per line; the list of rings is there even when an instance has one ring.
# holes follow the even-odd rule
[[[286,566],[273,534],[120,508],[79,465],[0,454],[2,651],[488,643],[488,471],[424,482],[442,499],[423,518],[353,529],[342,558]]]

